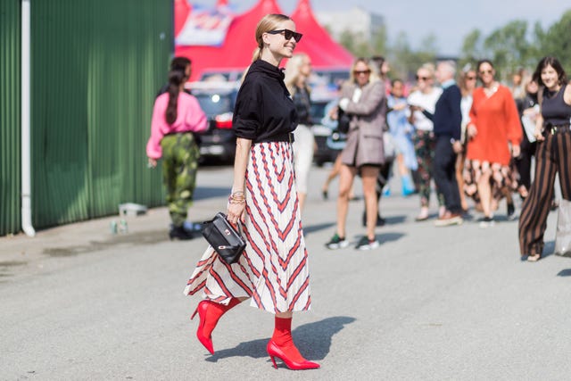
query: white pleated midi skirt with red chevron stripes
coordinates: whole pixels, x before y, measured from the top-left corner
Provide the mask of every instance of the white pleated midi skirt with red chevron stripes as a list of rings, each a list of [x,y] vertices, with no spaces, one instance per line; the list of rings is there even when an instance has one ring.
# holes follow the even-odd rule
[[[232,297],[252,297],[252,307],[272,313],[307,311],[310,274],[291,145],[252,145],[245,178],[244,253],[228,265],[209,246],[185,294],[203,290],[205,298],[222,304]]]

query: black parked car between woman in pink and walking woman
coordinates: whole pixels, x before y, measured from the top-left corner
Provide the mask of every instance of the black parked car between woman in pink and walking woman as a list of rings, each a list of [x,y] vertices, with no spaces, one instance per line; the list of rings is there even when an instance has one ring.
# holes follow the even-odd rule
[[[199,136],[201,163],[234,162],[236,135],[232,129],[232,115],[238,88],[231,83],[193,83],[191,91],[208,118],[208,129]]]

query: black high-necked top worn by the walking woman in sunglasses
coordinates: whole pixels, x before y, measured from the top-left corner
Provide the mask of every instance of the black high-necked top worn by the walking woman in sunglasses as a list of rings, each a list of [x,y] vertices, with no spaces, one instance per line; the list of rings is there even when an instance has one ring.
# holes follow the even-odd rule
[[[232,120],[236,137],[254,143],[283,141],[279,137],[294,131],[296,120],[282,70],[263,60],[252,62],[236,98]]]

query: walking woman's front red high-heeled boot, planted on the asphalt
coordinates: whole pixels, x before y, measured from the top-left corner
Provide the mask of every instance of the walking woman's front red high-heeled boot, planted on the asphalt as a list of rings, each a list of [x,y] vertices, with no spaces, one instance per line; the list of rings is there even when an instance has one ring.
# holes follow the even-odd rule
[[[292,338],[292,319],[282,319],[276,317],[276,328],[266,347],[269,358],[277,369],[276,357],[284,361],[287,368],[292,370],[318,369],[317,362],[305,360],[297,350]]]

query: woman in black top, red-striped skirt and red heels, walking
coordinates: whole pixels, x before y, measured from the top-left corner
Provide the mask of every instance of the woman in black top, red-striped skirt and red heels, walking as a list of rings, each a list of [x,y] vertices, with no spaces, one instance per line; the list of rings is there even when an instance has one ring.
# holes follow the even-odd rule
[[[228,203],[228,220],[242,220],[247,245],[232,265],[209,247],[185,294],[203,290],[205,298],[194,311],[200,317],[196,336],[209,352],[214,352],[211,332],[220,317],[251,298],[252,307],[275,314],[267,346],[274,366],[278,358],[289,369],[316,369],[319,364],[302,357],[291,335],[293,312],[310,309],[310,278],[294,178],[297,115],[278,69],[301,38],[285,15],[269,14],[258,23],[258,52],[236,99],[236,159]]]

